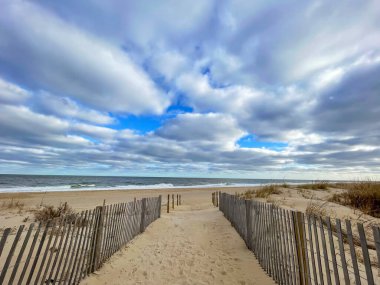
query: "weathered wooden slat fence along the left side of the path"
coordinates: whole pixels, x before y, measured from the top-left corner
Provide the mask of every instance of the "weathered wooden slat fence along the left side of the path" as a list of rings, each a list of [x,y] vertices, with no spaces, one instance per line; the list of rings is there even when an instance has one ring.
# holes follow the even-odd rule
[[[0,284],[78,284],[161,215],[161,196],[11,228],[0,238]]]

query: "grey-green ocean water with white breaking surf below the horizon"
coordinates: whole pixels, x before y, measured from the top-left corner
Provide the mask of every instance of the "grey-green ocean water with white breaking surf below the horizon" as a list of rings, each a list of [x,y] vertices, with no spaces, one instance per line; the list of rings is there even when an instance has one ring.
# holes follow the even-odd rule
[[[174,178],[122,176],[63,176],[0,174],[0,192],[51,192],[118,189],[159,189],[257,186],[271,183],[305,183],[307,180]]]

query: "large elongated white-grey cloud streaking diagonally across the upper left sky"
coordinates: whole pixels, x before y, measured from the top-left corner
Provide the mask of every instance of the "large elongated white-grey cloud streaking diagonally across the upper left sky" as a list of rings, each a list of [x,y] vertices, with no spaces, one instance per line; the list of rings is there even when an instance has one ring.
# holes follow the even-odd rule
[[[168,96],[120,48],[25,1],[7,1],[2,9],[2,71],[29,88],[104,111],[160,114],[168,107]]]

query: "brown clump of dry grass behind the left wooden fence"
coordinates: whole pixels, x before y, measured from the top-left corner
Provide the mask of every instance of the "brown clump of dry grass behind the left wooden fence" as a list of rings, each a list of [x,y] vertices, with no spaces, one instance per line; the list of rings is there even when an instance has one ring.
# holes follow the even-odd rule
[[[67,203],[61,203],[58,207],[53,205],[42,206],[34,212],[34,219],[38,222],[46,223],[49,220],[65,216],[67,221],[74,221],[75,213]]]

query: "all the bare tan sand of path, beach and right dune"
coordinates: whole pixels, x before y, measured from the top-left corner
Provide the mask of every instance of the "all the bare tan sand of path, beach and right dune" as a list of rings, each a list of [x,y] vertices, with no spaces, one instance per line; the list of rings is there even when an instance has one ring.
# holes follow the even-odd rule
[[[183,206],[170,214],[163,213],[161,219],[114,255],[98,274],[83,284],[271,284],[267,283],[272,282],[271,279],[260,269],[254,255],[246,249],[236,231],[211,205],[213,191],[240,193],[253,188],[0,193],[0,234],[5,228],[11,227],[14,235],[20,224],[33,222],[33,212],[41,205],[67,202],[74,210],[81,211],[101,205],[104,200],[106,204],[113,204],[163,195],[165,203],[167,194],[180,193]],[[373,247],[371,227],[380,225],[380,219],[326,202],[341,189],[321,191],[291,187],[280,190],[280,194],[259,200],[302,212],[311,203],[322,205],[332,218],[350,219],[354,224],[364,223],[368,242]],[[7,207],[12,200],[23,206]],[[353,234],[357,237],[355,228]],[[370,256],[371,260],[376,260],[374,250],[370,250]]]

